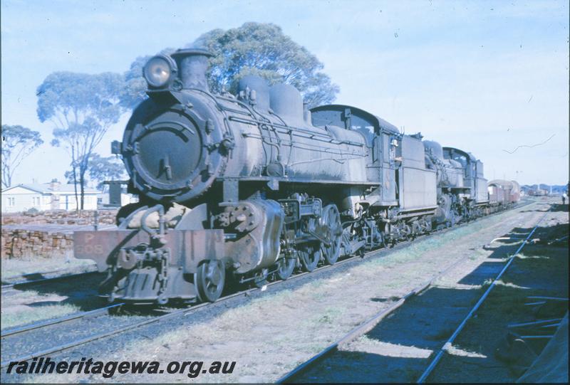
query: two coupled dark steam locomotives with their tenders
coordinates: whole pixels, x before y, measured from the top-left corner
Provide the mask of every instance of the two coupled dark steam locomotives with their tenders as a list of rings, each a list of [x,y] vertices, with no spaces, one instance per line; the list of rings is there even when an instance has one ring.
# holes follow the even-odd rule
[[[112,144],[140,201],[116,230],[74,235],[76,257],[108,271],[109,300],[213,302],[229,278],[286,280],[493,209],[472,154],[349,105],[309,110],[256,76],[214,95],[209,56],[148,61],[148,98]]]

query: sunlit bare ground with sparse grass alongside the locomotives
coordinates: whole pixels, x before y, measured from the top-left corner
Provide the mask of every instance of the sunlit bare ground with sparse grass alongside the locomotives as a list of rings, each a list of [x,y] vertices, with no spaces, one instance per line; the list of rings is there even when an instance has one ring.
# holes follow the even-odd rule
[[[452,253],[471,253],[465,268],[474,268],[483,258],[482,243],[533,221],[537,207],[541,206],[534,204],[483,218],[356,266],[339,265],[332,275],[312,273],[286,281],[267,288],[260,298],[252,293],[253,300],[242,296],[202,307],[182,321],[175,317],[86,345],[81,354],[112,354],[129,360],[152,356],[167,360],[182,353],[204,361],[227,358],[237,360],[236,370],[227,380],[272,381],[388,306],[393,297],[401,297],[442,270],[453,259]],[[232,308],[226,310],[228,306]],[[150,340],[141,341],[141,333]],[[190,351],[188,347],[192,347]],[[76,353],[71,355],[75,357]],[[73,381],[73,376],[68,376],[64,380]],[[141,380],[157,379],[138,378]],[[173,380],[172,376],[165,379]],[[219,376],[201,380],[224,381]],[[50,378],[44,376],[41,381]],[[120,381],[129,379],[121,376]]]

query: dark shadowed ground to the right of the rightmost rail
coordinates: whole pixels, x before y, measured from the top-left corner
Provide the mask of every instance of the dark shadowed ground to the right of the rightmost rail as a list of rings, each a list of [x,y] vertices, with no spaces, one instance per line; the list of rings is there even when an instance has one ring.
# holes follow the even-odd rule
[[[564,317],[568,302],[551,302],[529,307],[529,296],[568,298],[568,245],[544,246],[546,240],[569,233],[566,223],[541,226],[537,231],[537,246],[522,250],[523,258],[516,258],[504,275],[506,285],[495,288],[477,312],[477,318],[467,324],[455,342],[461,349],[480,352],[479,357],[460,357],[446,354],[427,379],[430,382],[514,382],[524,374],[534,354],[540,354],[547,339],[527,340],[526,347],[534,354],[512,353],[507,344],[507,325],[533,322],[540,319]],[[522,332],[524,329],[514,329]],[[542,334],[540,328],[527,329],[522,334]],[[550,329],[554,333],[554,329]],[[549,334],[549,332],[544,332]],[[567,342],[566,342],[567,343]],[[504,357],[509,357],[505,360]],[[564,373],[559,374],[564,378]],[[553,374],[554,377],[558,376]],[[551,377],[551,378],[554,378]],[[566,382],[568,372],[566,366]]]

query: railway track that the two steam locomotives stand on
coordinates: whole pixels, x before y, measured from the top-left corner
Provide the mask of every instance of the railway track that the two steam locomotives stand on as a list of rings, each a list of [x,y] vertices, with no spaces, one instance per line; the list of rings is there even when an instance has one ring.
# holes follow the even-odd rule
[[[513,207],[512,209],[519,209],[522,206],[527,206],[528,204],[531,204],[531,203],[532,202],[520,204],[518,206]],[[500,213],[504,213],[504,212],[506,212],[506,211],[499,211],[497,213],[493,213],[493,214],[486,216],[484,218],[489,218],[491,216],[494,216],[494,215],[497,215]],[[467,226],[471,223],[473,223],[473,222],[460,223],[457,226],[454,226],[451,228],[445,228],[445,229],[440,230],[440,231],[434,231],[432,233],[440,233],[440,234],[446,233],[448,231],[453,231],[457,228],[462,228],[463,226]],[[415,239],[426,238],[427,236],[432,235],[432,233],[427,233],[425,235],[418,236]],[[403,242],[400,242],[397,245],[393,246],[392,248],[381,248],[379,250],[369,251],[368,253],[365,253],[365,255],[363,255],[363,256],[353,256],[353,257],[344,258],[342,260],[338,260],[338,262],[335,263],[334,265],[323,265],[321,267],[318,267],[311,274],[315,275],[315,273],[317,273],[317,272],[324,272],[326,270],[336,270],[343,265],[347,265],[347,264],[351,265],[351,264],[359,263],[359,261],[363,260],[363,259],[368,260],[368,259],[372,259],[372,258],[380,258],[384,255],[388,255],[389,253],[393,253],[395,251],[408,248],[412,244],[413,244],[412,241],[403,241]],[[457,261],[456,263],[459,263],[459,261]],[[452,268],[452,266],[450,266],[449,268]],[[10,330],[4,332],[3,334],[1,334],[1,338],[2,338],[2,342],[3,342],[4,346],[14,347],[14,346],[16,346],[16,344],[14,342],[17,342],[18,339],[22,339],[22,338],[26,339],[26,337],[25,337],[26,335],[28,335],[28,336],[32,335],[33,336],[36,333],[40,333],[38,335],[41,335],[44,331],[49,331],[50,335],[66,335],[66,327],[68,327],[68,325],[71,322],[81,322],[81,321],[91,320],[91,319],[93,319],[93,317],[96,317],[98,319],[98,325],[102,325],[105,322],[105,317],[108,317],[107,318],[108,324],[111,325],[111,327],[105,328],[105,330],[101,330],[100,332],[96,332],[93,334],[86,334],[86,336],[78,338],[78,339],[74,339],[71,342],[63,342],[60,344],[53,344],[53,345],[48,346],[48,347],[42,347],[41,349],[36,349],[36,350],[31,351],[31,352],[26,352],[25,354],[21,354],[19,356],[15,356],[15,355],[11,356],[10,354],[4,353],[3,354],[4,357],[9,357],[9,358],[6,359],[6,361],[1,362],[0,367],[4,368],[10,362],[14,362],[14,361],[19,361],[19,362],[28,361],[28,360],[34,359],[36,357],[45,357],[48,354],[55,354],[58,352],[63,352],[67,349],[71,349],[73,347],[78,347],[78,346],[81,346],[84,344],[88,344],[90,342],[94,342],[94,341],[99,340],[99,339],[112,337],[114,335],[117,335],[117,334],[120,334],[123,332],[128,332],[128,331],[136,329],[138,327],[144,327],[146,325],[154,324],[157,322],[164,322],[166,320],[170,320],[172,317],[182,317],[185,315],[190,315],[193,312],[196,312],[197,310],[202,309],[203,307],[209,306],[209,307],[223,308],[226,305],[226,302],[228,302],[229,300],[232,300],[232,299],[237,298],[237,297],[251,296],[252,293],[254,293],[254,292],[264,291],[264,290],[266,290],[266,288],[273,287],[275,285],[280,285],[284,282],[291,282],[294,280],[299,280],[308,274],[309,274],[308,272],[298,273],[296,275],[291,276],[291,278],[289,278],[286,281],[278,280],[278,281],[274,281],[271,283],[267,283],[266,285],[264,285],[261,288],[250,288],[250,289],[243,290],[240,292],[235,292],[233,294],[226,295],[226,296],[220,298],[219,300],[217,300],[217,302],[214,302],[214,303],[207,302],[207,303],[202,303],[199,305],[192,305],[191,307],[184,307],[182,309],[177,309],[177,310],[170,310],[170,311],[166,310],[167,312],[165,314],[157,315],[157,316],[150,317],[150,318],[149,317],[143,317],[142,320],[137,320],[135,322],[125,322],[125,325],[119,325],[118,327],[115,327],[115,325],[123,323],[123,322],[117,322],[118,317],[114,317],[113,314],[111,314],[110,310],[120,309],[121,307],[124,306],[124,304],[122,304],[122,303],[110,305],[108,307],[102,307],[102,308],[95,309],[95,310],[91,310],[90,312],[76,313],[74,315],[69,315],[69,316],[61,317],[61,318],[54,319],[54,320],[47,320],[47,321],[43,321],[43,322],[38,322],[38,323],[33,324],[33,325],[26,325],[24,327],[10,329]],[[71,276],[64,276],[64,277],[61,277],[59,279],[61,280],[61,279],[64,279],[66,277],[69,278]],[[40,281],[45,282],[45,280],[40,280]],[[40,282],[38,281],[35,284],[39,284],[39,283]],[[24,284],[32,284],[33,285],[34,283],[33,283],[33,281],[30,281],[29,283],[24,283]],[[427,285],[429,285],[429,283]],[[425,288],[418,288],[417,290],[419,290],[419,291],[417,291],[417,292],[420,292],[424,289]],[[410,293],[408,296],[415,295],[415,294],[417,294],[417,292]],[[400,301],[405,301],[405,299],[407,299],[408,296],[406,296],[405,298],[403,298]],[[401,305],[401,303],[400,303],[400,305]],[[165,310],[161,310],[161,311],[165,311]],[[111,317],[112,317],[112,319],[111,319]],[[76,327],[76,329],[88,329],[86,327],[77,327],[78,325],[74,325],[74,326]],[[43,335],[45,335],[45,334],[43,334]],[[28,337],[28,339],[29,339],[29,337]]]

